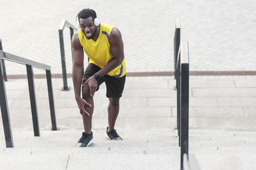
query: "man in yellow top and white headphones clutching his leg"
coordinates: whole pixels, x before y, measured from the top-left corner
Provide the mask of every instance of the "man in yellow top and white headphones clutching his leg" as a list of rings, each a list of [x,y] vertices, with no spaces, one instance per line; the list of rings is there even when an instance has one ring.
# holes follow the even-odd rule
[[[84,132],[77,146],[87,147],[92,143],[93,96],[103,82],[106,83],[106,96],[109,98],[106,136],[110,140],[122,140],[114,129],[126,74],[121,33],[116,27],[99,23],[93,10],[81,10],[77,18],[80,29],[72,37],[72,79],[84,125]],[[90,60],[82,78],[83,50]],[[81,84],[83,98],[80,96]]]

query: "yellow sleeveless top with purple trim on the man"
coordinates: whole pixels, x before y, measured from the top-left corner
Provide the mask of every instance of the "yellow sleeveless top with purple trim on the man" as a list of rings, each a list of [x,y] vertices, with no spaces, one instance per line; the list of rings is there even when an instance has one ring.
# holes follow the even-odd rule
[[[108,41],[112,29],[113,26],[100,23],[100,34],[97,41],[93,41],[93,39],[87,39],[81,29],[77,31],[81,46],[83,46],[84,52],[90,58],[89,63],[103,68],[106,66],[106,64],[108,64],[109,60],[113,58],[110,52],[110,45]],[[108,73],[109,76],[113,77],[122,77],[125,74],[125,60],[122,61],[122,64]]]

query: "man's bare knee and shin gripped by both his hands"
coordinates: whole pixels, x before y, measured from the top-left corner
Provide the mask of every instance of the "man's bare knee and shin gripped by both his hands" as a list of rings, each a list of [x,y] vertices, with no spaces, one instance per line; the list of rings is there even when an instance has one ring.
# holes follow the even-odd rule
[[[90,90],[89,90],[89,85],[86,84],[82,88],[83,92],[83,99],[85,99],[88,103],[92,104],[92,107],[86,107],[85,110],[89,113],[90,116],[87,114],[83,114],[83,124],[84,124],[84,132],[87,134],[91,134],[92,131],[92,114],[93,114],[93,109],[94,109],[94,103],[93,103],[93,97],[90,96]]]

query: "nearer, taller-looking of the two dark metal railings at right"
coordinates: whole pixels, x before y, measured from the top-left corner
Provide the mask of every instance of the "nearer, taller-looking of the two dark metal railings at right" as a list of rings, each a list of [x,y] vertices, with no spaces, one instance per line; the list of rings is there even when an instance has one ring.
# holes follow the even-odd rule
[[[189,49],[188,41],[181,41],[177,58],[177,108],[179,108],[180,169],[183,169],[183,155],[188,154],[189,143]]]

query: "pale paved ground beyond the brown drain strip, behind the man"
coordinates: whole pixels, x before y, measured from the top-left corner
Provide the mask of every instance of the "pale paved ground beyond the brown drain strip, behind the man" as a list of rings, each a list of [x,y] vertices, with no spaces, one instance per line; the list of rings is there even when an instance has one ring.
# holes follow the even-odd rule
[[[255,1],[0,1],[0,38],[6,52],[52,66],[61,73],[58,27],[76,25],[83,8],[122,32],[127,71],[172,71],[175,18],[189,41],[191,70],[254,70]],[[69,31],[65,30],[67,72],[71,73]],[[9,74],[25,67],[8,64]],[[35,73],[42,73],[38,70]]]

